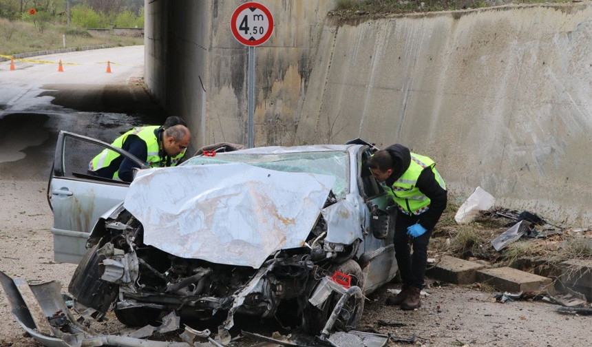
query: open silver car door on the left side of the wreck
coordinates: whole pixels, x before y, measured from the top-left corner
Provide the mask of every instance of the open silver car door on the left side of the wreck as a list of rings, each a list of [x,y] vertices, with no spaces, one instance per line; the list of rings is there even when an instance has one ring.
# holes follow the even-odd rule
[[[47,200],[54,215],[54,260],[77,264],[86,253],[86,240],[96,220],[125,199],[129,183],[87,174],[88,163],[108,148],[134,160],[141,168],[145,163],[94,138],[60,132],[54,164],[47,185]]]

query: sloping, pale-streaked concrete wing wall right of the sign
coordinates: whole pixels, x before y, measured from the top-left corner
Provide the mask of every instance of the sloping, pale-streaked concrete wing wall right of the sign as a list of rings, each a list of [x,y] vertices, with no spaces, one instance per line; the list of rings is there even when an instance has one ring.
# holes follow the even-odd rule
[[[295,143],[403,143],[452,191],[591,223],[591,19],[588,2],[329,21]]]

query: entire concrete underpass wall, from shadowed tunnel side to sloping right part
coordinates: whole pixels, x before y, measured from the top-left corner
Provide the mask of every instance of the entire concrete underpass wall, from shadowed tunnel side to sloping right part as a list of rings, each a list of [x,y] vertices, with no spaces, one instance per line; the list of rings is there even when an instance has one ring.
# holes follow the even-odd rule
[[[147,84],[195,147],[246,143],[247,50],[229,28],[242,2],[146,1]],[[451,191],[592,222],[590,2],[349,21],[327,15],[335,1],[265,5],[255,145],[403,143]]]

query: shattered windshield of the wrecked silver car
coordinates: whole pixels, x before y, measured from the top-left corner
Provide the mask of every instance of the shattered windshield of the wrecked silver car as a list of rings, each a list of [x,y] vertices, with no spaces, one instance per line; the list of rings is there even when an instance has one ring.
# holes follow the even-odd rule
[[[332,191],[337,198],[343,198],[349,191],[348,154],[343,151],[312,151],[283,154],[242,154],[236,152],[220,153],[216,156],[195,156],[183,165],[226,164],[243,162],[245,164],[286,172],[310,172],[335,176]]]

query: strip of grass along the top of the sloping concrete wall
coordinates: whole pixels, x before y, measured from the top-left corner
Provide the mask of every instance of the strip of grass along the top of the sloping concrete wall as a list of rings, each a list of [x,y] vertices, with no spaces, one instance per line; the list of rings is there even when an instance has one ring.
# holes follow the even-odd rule
[[[513,0],[510,3],[563,3],[571,0]],[[380,15],[405,12],[432,12],[442,10],[465,10],[485,8],[495,1],[484,0],[339,0],[335,6],[337,16],[349,17],[352,14]]]

